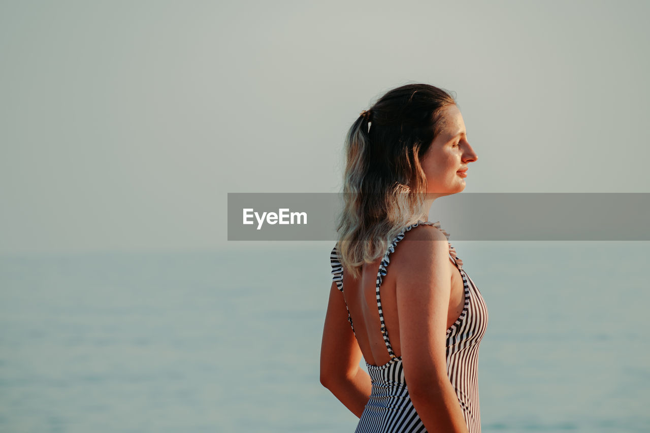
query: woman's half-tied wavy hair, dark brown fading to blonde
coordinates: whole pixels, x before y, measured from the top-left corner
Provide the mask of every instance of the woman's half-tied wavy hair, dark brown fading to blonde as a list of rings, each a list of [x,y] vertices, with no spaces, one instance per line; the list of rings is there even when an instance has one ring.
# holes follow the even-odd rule
[[[344,207],[337,249],[344,272],[385,254],[406,226],[426,220],[426,175],[420,161],[441,129],[443,108],[456,101],[426,84],[390,90],[361,112],[345,140]]]

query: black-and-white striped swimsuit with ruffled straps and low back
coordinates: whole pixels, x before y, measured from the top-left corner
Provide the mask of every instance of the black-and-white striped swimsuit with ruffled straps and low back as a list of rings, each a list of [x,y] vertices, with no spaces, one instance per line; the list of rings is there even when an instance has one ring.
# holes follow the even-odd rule
[[[380,331],[391,360],[384,365],[366,363],[372,380],[372,391],[355,433],[426,432],[408,394],[408,387],[402,369],[402,358],[396,357],[393,348],[391,348],[385,330],[382,302],[379,294],[382,277],[386,275],[390,262],[389,254],[395,252],[395,246],[404,239],[405,233],[419,224],[434,226],[445,233],[445,236],[449,239],[449,234],[440,228],[439,222],[419,221],[404,228],[395,237],[395,240],[389,245],[386,254],[383,256],[377,272],[377,307],[381,321]],[[458,402],[463,410],[463,417],[469,433],[480,433],[477,375],[478,346],[486,332],[487,308],[478,288],[465,273],[465,270],[462,269],[463,262],[456,256],[456,251],[451,245],[449,251],[450,260],[456,265],[463,278],[465,305],[460,317],[447,330],[447,374],[458,396]],[[333,280],[336,282],[338,289],[343,292],[343,266],[339,261],[336,246],[331,252],[330,262]],[[348,321],[352,326],[349,310]],[[354,332],[354,326],[352,326],[352,331]]]

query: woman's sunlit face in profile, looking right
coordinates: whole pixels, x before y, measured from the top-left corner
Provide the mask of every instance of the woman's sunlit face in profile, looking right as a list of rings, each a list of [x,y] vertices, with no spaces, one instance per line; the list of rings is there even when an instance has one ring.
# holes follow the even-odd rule
[[[440,133],[421,161],[426,174],[426,192],[435,196],[447,196],[465,189],[467,164],[478,159],[467,142],[465,122],[456,105],[443,109],[441,122]]]

